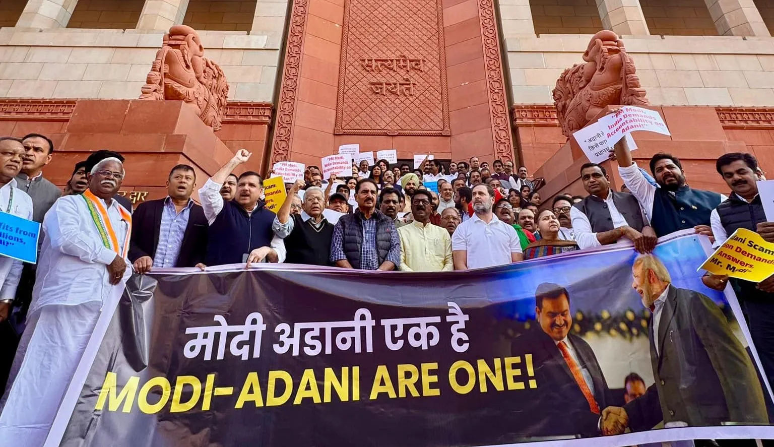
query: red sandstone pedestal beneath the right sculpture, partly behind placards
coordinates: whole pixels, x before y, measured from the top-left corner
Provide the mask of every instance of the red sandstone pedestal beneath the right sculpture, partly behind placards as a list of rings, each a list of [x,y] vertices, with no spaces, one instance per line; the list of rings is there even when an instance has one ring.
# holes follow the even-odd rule
[[[604,116],[611,107],[601,112]],[[639,167],[649,170],[650,158],[659,152],[672,153],[680,158],[683,171],[691,187],[727,193],[728,187],[715,171],[715,160],[729,152],[752,152],[745,141],[735,141],[728,134],[713,107],[649,107],[658,111],[669,127],[672,136],[652,132],[633,132],[638,149],[632,157]],[[596,122],[596,119],[594,121]],[[760,157],[759,157],[760,158]],[[580,150],[575,139],[570,139],[557,153],[554,153],[535,172],[535,177],[544,177],[546,186],[540,190],[544,202],[557,194],[586,195],[580,181],[580,166],[588,159]],[[618,176],[618,163],[603,163],[611,179],[611,187],[620,191],[623,181]]]

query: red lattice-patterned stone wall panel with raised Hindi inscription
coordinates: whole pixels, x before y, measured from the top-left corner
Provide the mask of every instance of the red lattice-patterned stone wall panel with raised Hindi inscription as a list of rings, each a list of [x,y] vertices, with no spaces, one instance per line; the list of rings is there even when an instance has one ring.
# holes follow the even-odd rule
[[[336,135],[450,135],[442,0],[344,2]]]

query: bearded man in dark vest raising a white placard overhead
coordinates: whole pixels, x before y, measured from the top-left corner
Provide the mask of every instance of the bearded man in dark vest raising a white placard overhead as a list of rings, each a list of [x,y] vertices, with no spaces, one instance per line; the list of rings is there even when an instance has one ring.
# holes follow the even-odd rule
[[[656,236],[684,229],[712,236],[710,213],[726,199],[724,195],[689,187],[680,160],[668,153],[656,153],[650,159],[650,172],[659,186],[650,184],[632,160],[625,138],[615,143],[615,157],[618,174],[645,210]]]

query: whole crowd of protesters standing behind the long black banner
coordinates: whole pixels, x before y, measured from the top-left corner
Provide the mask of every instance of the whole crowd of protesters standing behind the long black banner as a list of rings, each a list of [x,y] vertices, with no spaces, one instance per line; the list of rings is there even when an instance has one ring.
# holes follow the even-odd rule
[[[206,181],[186,164],[173,167],[168,196],[134,210],[118,194],[121,154],[101,150],[76,163],[64,191],[43,177],[53,154],[43,135],[0,137],[0,209],[42,224],[38,263],[0,257],[0,390],[9,379],[0,408],[62,397],[104,300],[132,272],[261,262],[467,270],[616,243],[651,253],[660,236],[684,229],[715,244],[739,228],[774,242],[755,183],[764,173],[748,153],[717,160],[731,189],[725,196],[690,187],[670,154],[653,156],[647,172],[623,139],[615,146],[622,191],[611,188],[603,166],[585,163],[579,174],[587,194],[550,202],[527,168],[514,170],[510,160],[494,160],[491,170],[476,156],[450,163],[427,157],[418,169],[361,161],[346,178],[324,178],[310,166],[303,180],[286,184],[276,213],[265,207],[261,175],[235,174],[252,156],[247,150]],[[709,273],[702,280],[716,290],[729,282]],[[774,383],[774,277],[730,282]],[[40,367],[46,364],[56,370]],[[48,427],[52,409],[2,413],[0,428]]]

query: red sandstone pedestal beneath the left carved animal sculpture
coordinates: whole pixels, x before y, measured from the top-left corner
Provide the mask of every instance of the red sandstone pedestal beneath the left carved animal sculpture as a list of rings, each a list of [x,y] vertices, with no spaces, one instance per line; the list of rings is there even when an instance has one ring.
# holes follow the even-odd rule
[[[57,152],[46,178],[63,185],[90,152],[115,150],[126,158],[121,191],[135,204],[166,196],[176,164],[194,167],[198,189],[234,154],[183,101],[77,101],[63,131],[49,135]],[[260,170],[260,157],[254,158],[238,172]]]

